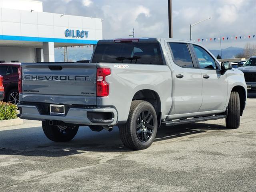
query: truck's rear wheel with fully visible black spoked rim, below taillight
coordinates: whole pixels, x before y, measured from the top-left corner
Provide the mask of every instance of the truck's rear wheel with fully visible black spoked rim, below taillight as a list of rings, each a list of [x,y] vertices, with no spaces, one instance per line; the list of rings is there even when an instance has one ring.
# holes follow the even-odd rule
[[[125,146],[134,150],[148,148],[156,137],[157,116],[154,107],[146,101],[132,101],[126,124],[119,126]]]

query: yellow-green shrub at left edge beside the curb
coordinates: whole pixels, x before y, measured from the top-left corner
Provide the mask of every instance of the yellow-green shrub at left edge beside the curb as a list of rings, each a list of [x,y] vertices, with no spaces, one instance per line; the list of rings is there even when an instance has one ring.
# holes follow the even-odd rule
[[[0,120],[17,118],[17,106],[11,103],[0,102]]]

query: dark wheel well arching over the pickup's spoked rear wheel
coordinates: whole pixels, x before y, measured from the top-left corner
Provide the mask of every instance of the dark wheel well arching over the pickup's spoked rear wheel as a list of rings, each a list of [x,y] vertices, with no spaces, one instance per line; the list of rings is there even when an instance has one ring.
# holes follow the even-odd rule
[[[158,125],[160,126],[160,122],[161,122],[161,101],[159,98],[159,95],[153,91],[153,90],[140,90],[138,92],[136,92],[136,94],[134,95],[134,97],[132,98],[132,100],[144,100],[149,102],[150,104],[152,104],[152,106],[154,107],[154,109],[156,110],[156,115],[157,115],[157,120],[158,120]]]

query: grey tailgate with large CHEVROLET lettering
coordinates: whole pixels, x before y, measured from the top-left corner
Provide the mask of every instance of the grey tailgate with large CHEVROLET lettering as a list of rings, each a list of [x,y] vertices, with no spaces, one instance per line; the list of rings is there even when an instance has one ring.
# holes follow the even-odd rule
[[[96,64],[22,63],[21,102],[96,105]]]

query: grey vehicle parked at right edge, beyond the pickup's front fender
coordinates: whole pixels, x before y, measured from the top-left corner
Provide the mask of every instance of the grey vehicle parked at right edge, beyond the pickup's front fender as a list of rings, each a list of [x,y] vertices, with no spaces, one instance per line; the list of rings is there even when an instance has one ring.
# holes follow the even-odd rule
[[[242,67],[237,68],[244,72],[247,90],[256,91],[256,56],[250,57]]]

